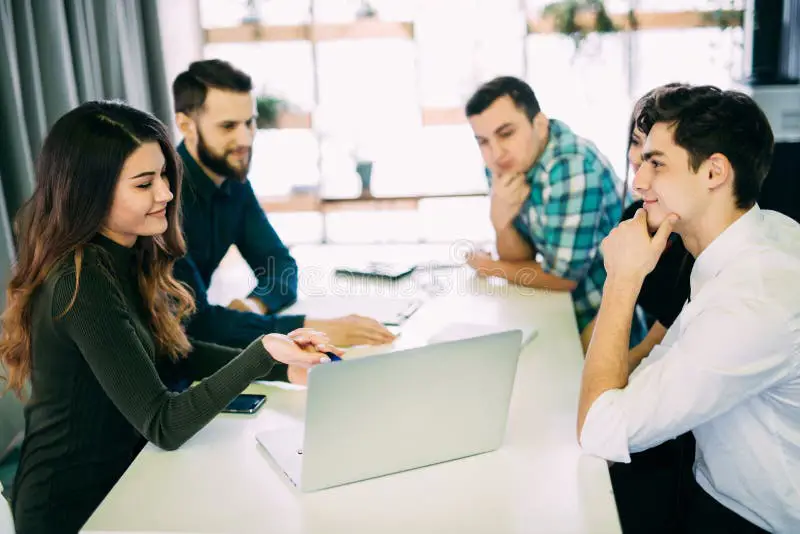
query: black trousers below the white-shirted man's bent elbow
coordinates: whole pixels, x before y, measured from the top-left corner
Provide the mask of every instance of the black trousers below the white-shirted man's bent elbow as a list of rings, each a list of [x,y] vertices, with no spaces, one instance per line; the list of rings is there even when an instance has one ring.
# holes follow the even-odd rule
[[[611,466],[611,485],[624,534],[762,533],[706,493],[694,478],[695,441],[684,434],[631,463]]]

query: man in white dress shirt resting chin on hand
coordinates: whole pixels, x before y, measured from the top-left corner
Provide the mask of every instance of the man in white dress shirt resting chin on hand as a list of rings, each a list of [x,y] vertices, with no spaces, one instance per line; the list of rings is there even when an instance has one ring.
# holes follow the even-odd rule
[[[800,532],[800,225],[755,203],[769,123],[748,96],[706,86],[660,90],[639,126],[644,208],[602,245],[581,446],[628,462],[691,430],[682,531]],[[636,298],[671,231],[696,258],[691,295],[662,344],[633,361]]]

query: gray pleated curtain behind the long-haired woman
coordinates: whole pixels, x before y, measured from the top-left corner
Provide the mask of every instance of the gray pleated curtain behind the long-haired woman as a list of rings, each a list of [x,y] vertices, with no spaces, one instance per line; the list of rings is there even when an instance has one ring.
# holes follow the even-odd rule
[[[0,282],[10,221],[49,127],[81,102],[121,99],[171,121],[158,0],[0,0]],[[2,304],[0,304],[0,308]]]

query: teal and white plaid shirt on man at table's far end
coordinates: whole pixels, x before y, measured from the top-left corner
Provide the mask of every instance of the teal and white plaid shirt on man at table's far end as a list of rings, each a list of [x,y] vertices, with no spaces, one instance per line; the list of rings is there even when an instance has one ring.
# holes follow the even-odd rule
[[[600,243],[622,218],[622,182],[593,143],[553,119],[550,139],[527,181],[530,197],[514,227],[542,255],[546,273],[577,282],[572,300],[583,331],[600,309],[606,280]],[[645,333],[635,313],[631,346]]]

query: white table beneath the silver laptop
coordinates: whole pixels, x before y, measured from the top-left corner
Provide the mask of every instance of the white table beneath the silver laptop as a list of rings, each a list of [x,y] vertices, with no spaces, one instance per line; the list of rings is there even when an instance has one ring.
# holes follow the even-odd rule
[[[324,270],[331,250],[296,255]],[[408,294],[420,276],[393,290]],[[255,416],[221,415],[175,452],[148,445],[82,532],[620,532],[606,463],[582,455],[575,438],[582,355],[568,296],[487,282],[467,269],[437,277],[444,294],[412,316],[398,345],[473,314],[539,328],[520,356],[500,450],[303,494],[254,435],[302,420],[305,392],[258,384],[251,389],[268,402]]]

